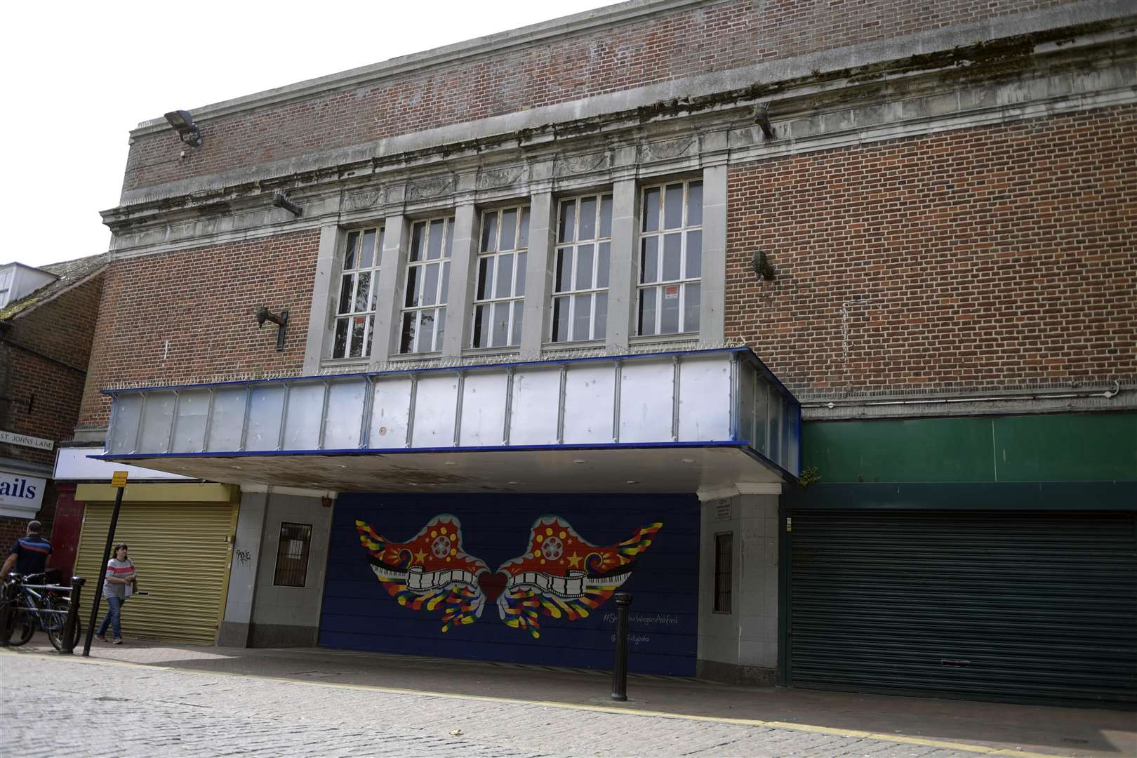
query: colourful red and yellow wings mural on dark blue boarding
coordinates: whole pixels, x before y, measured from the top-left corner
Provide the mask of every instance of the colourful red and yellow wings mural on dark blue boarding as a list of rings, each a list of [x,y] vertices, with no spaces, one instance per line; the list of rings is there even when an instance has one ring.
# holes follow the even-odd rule
[[[628,581],[639,556],[663,526],[648,524],[632,536],[599,547],[580,536],[559,516],[541,516],[529,532],[529,549],[489,566],[462,550],[462,524],[456,516],[435,516],[406,543],[380,536],[356,520],[372,570],[399,605],[414,610],[442,608],[442,631],[472,624],[485,601],[497,602],[506,625],[540,636],[540,616],[576,620],[604,605]]]

